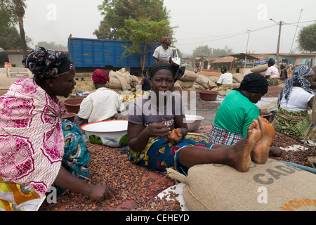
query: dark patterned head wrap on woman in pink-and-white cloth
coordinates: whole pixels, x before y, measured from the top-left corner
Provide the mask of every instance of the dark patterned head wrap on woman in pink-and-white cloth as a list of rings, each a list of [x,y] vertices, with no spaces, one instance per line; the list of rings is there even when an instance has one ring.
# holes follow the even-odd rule
[[[22,60],[25,68],[31,70],[34,79],[51,79],[69,72],[74,65],[60,51],[37,47],[27,58]]]

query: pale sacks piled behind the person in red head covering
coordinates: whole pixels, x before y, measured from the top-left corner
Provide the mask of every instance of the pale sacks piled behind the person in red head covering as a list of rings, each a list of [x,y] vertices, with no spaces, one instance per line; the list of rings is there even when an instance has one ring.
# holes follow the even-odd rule
[[[138,78],[131,75],[125,68],[121,70],[113,71],[109,73],[110,82],[105,84],[105,87],[109,89],[121,89],[122,91],[131,90],[134,86],[131,86],[132,82],[138,83]]]

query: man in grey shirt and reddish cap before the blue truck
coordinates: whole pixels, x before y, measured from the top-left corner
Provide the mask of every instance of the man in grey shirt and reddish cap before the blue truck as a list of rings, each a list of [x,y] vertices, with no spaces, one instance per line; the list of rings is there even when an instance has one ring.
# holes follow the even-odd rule
[[[173,51],[169,47],[171,45],[171,40],[169,37],[162,37],[161,46],[154,50],[154,63],[172,63]]]

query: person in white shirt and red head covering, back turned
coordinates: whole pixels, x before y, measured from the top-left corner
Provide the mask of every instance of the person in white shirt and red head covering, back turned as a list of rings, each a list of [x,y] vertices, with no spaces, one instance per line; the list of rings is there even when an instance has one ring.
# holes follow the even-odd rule
[[[105,70],[97,69],[93,72],[92,80],[97,90],[82,101],[78,120],[83,123],[116,120],[117,113],[124,110],[124,104],[119,94],[105,88],[110,81],[109,75]]]

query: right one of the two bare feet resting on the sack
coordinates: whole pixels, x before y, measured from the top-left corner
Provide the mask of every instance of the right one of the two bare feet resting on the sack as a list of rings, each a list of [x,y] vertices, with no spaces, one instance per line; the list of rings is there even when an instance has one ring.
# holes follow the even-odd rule
[[[258,164],[264,164],[268,160],[270,146],[275,138],[275,129],[263,117],[259,116],[258,121],[261,129],[261,139],[251,152],[251,160]]]

